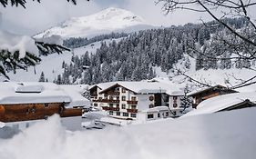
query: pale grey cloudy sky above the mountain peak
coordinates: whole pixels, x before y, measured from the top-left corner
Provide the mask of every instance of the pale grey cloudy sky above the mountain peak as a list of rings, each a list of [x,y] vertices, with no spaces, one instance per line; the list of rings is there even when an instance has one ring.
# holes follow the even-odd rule
[[[127,9],[135,15],[143,17],[152,25],[183,25],[199,23],[200,17],[210,19],[207,15],[189,11],[179,11],[165,15],[156,0],[77,0],[77,5],[67,0],[41,0],[41,4],[28,0],[23,7],[7,7],[0,5],[2,25],[5,30],[22,35],[34,35],[51,26],[57,25],[70,17],[91,15],[110,6]],[[1,19],[1,17],[0,17]]]

